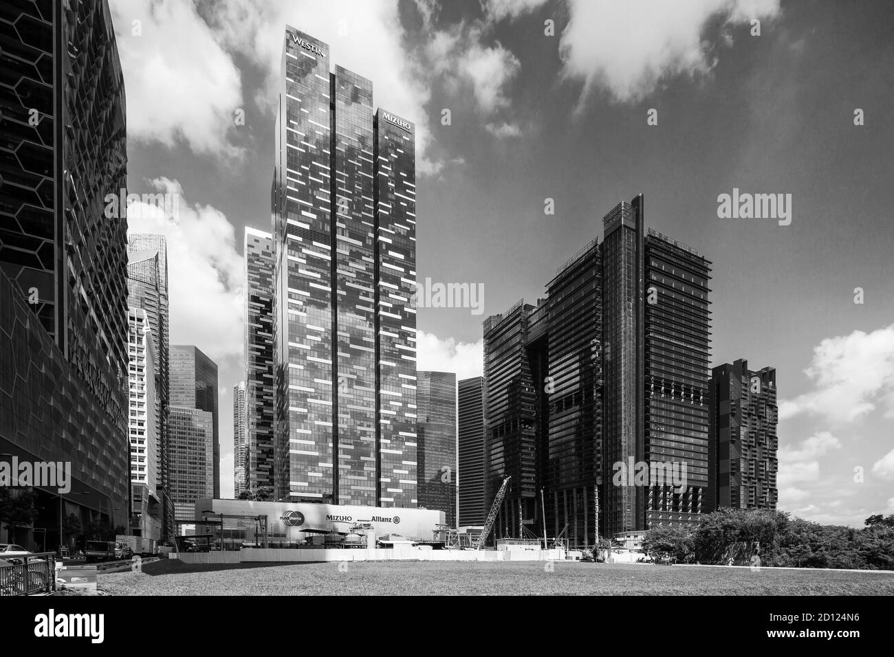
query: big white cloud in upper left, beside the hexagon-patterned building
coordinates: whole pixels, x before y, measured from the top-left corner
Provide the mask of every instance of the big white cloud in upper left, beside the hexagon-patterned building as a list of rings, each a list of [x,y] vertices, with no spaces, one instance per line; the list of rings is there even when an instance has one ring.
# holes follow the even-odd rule
[[[240,71],[191,2],[111,0],[130,139],[240,156],[228,139],[242,105]],[[139,21],[139,35],[133,34]]]

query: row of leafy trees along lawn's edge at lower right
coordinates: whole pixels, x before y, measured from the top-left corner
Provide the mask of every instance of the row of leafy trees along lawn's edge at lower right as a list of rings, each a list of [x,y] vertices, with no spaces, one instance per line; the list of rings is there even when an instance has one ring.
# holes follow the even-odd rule
[[[866,518],[863,529],[820,525],[784,511],[720,509],[695,526],[658,526],[645,534],[646,552],[678,561],[717,563],[759,554],[763,566],[894,569],[894,514]]]

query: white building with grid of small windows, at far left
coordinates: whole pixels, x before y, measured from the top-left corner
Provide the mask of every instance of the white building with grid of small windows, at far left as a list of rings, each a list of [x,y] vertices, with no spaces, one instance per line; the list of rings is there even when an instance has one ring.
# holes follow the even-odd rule
[[[156,355],[148,313],[128,309],[130,360],[129,434],[131,439],[131,531],[156,541],[162,537],[158,495],[158,425],[156,424]]]

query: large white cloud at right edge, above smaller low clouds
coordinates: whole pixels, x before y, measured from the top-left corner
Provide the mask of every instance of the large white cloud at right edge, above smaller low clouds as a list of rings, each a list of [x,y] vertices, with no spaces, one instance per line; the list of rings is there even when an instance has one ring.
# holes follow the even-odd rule
[[[823,340],[804,373],[814,390],[782,400],[781,420],[809,413],[841,425],[878,405],[885,417],[894,417],[894,324]]]

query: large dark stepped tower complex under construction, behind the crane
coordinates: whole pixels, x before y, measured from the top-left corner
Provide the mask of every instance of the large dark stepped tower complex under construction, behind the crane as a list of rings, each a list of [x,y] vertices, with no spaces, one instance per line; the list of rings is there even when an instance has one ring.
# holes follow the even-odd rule
[[[485,500],[503,476],[518,482],[497,535],[543,520],[548,535],[592,545],[597,527],[641,531],[707,508],[711,263],[646,232],[642,195],[603,228],[547,299],[485,321]],[[616,476],[644,462],[685,466],[686,482]]]

